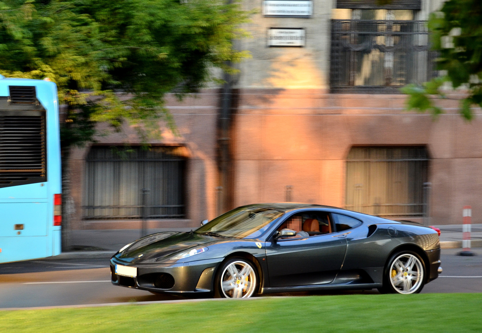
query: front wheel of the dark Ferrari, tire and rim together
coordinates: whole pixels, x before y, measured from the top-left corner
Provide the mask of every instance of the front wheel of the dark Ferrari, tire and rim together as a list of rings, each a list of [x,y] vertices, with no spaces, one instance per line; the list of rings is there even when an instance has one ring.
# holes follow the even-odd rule
[[[256,267],[245,258],[230,258],[219,268],[215,283],[217,297],[252,297],[258,285]]]

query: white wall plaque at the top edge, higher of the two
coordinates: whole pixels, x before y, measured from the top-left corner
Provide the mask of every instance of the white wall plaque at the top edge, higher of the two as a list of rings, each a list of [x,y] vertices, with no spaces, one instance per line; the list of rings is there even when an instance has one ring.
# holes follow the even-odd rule
[[[311,0],[264,0],[263,15],[271,17],[310,17],[313,14]]]

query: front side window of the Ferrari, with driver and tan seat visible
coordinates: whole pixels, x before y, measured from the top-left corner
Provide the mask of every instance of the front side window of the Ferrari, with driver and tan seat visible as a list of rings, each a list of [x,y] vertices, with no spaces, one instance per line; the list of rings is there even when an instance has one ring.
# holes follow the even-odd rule
[[[303,212],[290,216],[278,231],[288,228],[296,231],[296,235],[284,239],[306,238],[316,235],[329,234],[334,231],[330,214],[326,212]]]

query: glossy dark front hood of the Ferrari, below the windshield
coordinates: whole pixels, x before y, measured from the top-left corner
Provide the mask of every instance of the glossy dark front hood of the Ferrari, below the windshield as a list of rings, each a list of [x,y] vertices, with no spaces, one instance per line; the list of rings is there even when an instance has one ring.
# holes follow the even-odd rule
[[[215,242],[219,239],[189,232],[160,232],[136,240],[115,257],[126,262],[159,262],[174,253]]]

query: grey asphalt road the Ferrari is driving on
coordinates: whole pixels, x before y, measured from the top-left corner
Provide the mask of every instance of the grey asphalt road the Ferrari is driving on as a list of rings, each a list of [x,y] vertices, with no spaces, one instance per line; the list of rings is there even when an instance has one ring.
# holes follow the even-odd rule
[[[443,273],[439,279],[428,283],[422,293],[482,293],[482,248],[473,250],[477,256],[455,255],[460,249],[442,250]],[[330,294],[333,293],[378,292],[337,291]],[[291,293],[308,294],[313,293]],[[108,259],[31,260],[0,264],[0,308],[176,299],[183,298],[113,286]]]

